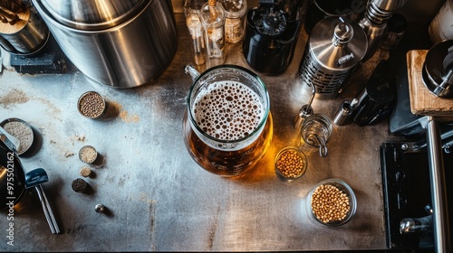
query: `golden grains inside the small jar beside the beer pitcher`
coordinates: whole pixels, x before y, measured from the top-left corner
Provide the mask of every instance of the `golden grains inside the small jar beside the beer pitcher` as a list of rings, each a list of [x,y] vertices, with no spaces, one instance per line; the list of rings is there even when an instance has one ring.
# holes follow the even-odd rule
[[[275,164],[284,177],[295,178],[304,173],[304,159],[294,150],[284,151]]]

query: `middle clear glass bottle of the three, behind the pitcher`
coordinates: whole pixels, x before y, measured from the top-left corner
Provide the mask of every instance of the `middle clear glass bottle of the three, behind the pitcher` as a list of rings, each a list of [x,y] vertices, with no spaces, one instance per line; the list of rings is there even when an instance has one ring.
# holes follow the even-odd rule
[[[201,22],[205,28],[207,46],[207,67],[225,62],[225,10],[216,0],[208,0],[200,10]]]

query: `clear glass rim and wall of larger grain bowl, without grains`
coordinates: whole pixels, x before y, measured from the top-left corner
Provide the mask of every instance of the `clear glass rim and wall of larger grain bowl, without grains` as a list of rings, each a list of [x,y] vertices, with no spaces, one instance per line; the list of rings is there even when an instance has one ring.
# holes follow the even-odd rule
[[[313,192],[322,185],[332,185],[336,187],[338,190],[346,194],[346,196],[349,199],[349,211],[346,212],[346,216],[342,220],[330,220],[328,222],[324,222],[323,220],[320,220],[316,217],[316,215],[313,212],[312,208],[312,199],[313,199]],[[342,182],[340,179],[326,179],[320,183],[317,183],[314,185],[313,189],[308,193],[308,196],[306,198],[306,203],[305,203],[305,209],[307,212],[307,216],[310,220],[316,220],[317,223],[330,226],[330,227],[337,227],[341,226],[343,224],[346,224],[349,220],[351,220],[352,216],[355,214],[355,211],[357,209],[357,200],[355,198],[355,194],[352,191],[352,188],[347,184]]]

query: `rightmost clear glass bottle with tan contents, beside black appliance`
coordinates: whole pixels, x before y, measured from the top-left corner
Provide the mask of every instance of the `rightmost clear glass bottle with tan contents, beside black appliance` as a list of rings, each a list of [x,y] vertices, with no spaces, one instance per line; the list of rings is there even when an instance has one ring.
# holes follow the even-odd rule
[[[225,41],[240,42],[244,37],[247,11],[246,0],[220,0],[225,9]]]

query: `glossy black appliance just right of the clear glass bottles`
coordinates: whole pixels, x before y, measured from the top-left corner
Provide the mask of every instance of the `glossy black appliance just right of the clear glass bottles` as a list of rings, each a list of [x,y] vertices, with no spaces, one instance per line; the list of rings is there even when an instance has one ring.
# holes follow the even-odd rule
[[[242,44],[252,69],[268,75],[284,72],[294,56],[306,1],[260,0],[246,14]]]

